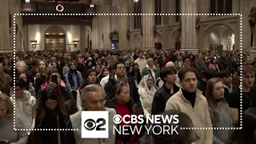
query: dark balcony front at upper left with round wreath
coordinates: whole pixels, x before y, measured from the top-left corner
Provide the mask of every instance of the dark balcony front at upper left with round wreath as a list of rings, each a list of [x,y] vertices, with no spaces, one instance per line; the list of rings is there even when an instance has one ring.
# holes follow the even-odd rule
[[[61,2],[61,1],[45,1],[45,0],[30,0],[25,2],[22,0],[22,13],[58,13],[56,6],[62,5],[64,14],[94,14],[96,13],[95,5],[83,2]]]

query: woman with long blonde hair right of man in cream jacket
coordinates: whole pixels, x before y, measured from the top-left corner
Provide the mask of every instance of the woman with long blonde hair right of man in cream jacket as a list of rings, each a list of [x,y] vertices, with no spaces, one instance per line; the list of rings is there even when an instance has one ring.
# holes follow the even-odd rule
[[[211,78],[206,85],[206,99],[213,127],[233,127],[230,106],[224,97],[222,78]],[[214,144],[224,144],[228,141],[230,130],[214,129]]]

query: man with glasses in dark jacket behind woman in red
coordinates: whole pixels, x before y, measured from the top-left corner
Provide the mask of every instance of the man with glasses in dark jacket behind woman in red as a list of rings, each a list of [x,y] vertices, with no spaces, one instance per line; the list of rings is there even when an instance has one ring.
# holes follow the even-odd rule
[[[130,97],[136,102],[138,106],[138,114],[144,114],[142,109],[142,103],[140,101],[140,96],[138,94],[137,86],[132,78],[126,75],[126,64],[124,62],[117,62],[115,64],[116,72],[111,75],[109,78],[109,82],[106,83],[106,100],[114,98],[114,86],[118,84],[118,82],[124,83],[129,86],[130,89]]]

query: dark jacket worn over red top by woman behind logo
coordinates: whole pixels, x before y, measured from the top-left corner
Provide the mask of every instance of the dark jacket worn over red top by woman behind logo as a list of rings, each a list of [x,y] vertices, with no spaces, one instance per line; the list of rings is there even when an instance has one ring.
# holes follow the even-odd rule
[[[105,103],[105,106],[108,107],[108,108],[113,108],[114,110],[116,110],[116,112],[118,114],[118,111],[116,109],[114,101],[115,101],[114,98],[112,98],[110,100],[107,100],[106,103]],[[127,103],[127,106],[130,109],[130,114],[138,115],[138,109],[137,109],[138,107],[132,99],[130,99],[130,101]],[[132,124],[132,126],[135,126],[135,125]],[[122,135],[119,135],[118,133],[116,133],[116,137],[115,137],[116,142],[115,143],[129,142],[131,136],[135,137],[134,142],[136,142],[138,140],[138,135],[136,135],[136,134],[130,133],[129,135],[123,135],[123,136],[125,136],[125,138],[122,138]]]

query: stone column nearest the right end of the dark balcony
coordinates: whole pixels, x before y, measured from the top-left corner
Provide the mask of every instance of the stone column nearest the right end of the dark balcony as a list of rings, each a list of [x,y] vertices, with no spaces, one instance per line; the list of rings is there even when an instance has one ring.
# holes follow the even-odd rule
[[[104,7],[102,7],[103,14],[111,13],[111,6],[113,0],[104,0]],[[111,49],[110,42],[110,32],[111,32],[111,16],[103,16],[103,49]]]

